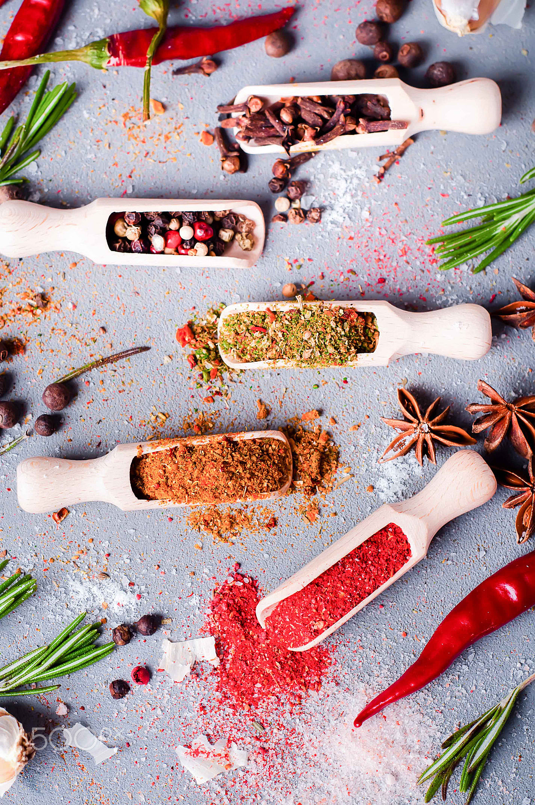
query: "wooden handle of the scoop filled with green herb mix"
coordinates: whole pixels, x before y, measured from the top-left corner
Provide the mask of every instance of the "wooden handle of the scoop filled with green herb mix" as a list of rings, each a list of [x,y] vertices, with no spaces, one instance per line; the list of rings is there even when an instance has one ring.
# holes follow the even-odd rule
[[[409,325],[404,344],[397,356],[433,353],[475,361],[491,348],[491,317],[478,304],[459,304],[451,308],[411,313],[400,311]]]

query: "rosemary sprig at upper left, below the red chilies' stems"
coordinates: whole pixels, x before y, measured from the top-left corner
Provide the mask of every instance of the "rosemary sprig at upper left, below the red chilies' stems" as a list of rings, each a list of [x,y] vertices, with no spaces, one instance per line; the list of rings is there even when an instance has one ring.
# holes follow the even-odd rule
[[[0,187],[27,181],[25,176],[16,179],[14,176],[35,162],[41,152],[32,149],[56,126],[77,97],[76,85],[69,86],[67,81],[45,92],[49,78],[50,71],[47,70],[35,93],[26,122],[15,128],[15,118],[12,117],[0,134]]]

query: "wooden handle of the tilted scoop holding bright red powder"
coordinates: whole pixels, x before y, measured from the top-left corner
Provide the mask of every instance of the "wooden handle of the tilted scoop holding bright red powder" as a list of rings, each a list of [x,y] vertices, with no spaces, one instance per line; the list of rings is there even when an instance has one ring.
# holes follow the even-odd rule
[[[496,492],[496,478],[474,450],[459,450],[443,464],[429,484],[408,501],[392,504],[400,514],[412,514],[428,528],[427,546],[446,522],[483,506]]]

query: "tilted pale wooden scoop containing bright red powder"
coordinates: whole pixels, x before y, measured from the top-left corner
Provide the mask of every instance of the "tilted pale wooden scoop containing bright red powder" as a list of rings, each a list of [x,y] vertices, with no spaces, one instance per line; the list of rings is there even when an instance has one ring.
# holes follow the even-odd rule
[[[381,584],[375,592],[372,592],[329,629],[307,643],[306,646],[292,646],[292,651],[305,651],[317,646],[319,642],[333,634],[342,624],[349,621],[350,617],[353,617],[423,559],[433,536],[446,522],[477,506],[482,506],[491,499],[495,492],[496,478],[487,462],[473,450],[460,450],[446,461],[446,464],[438,470],[438,473],[421,492],[414,497],[409,497],[408,501],[392,503],[392,505],[385,503],[328,547],[326,551],[323,551],[316,559],[301,568],[284,584],[277,587],[274,592],[259,601],[259,605],[256,607],[256,617],[258,617],[260,625],[263,629],[266,628],[266,618],[280,601],[284,601],[294,592],[302,590],[317,576],[321,576],[321,573],[331,565],[336,564],[343,556],[361,545],[368,537],[376,534],[384,526],[388,526],[388,523],[394,522],[409,540],[411,558],[395,576]]]

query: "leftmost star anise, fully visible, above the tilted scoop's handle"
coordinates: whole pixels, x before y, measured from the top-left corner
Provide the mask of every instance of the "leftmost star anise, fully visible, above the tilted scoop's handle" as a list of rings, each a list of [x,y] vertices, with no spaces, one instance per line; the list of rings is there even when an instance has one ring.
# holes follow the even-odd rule
[[[416,445],[415,452],[418,464],[423,464],[425,453],[427,453],[429,461],[436,464],[437,459],[433,442],[446,444],[449,448],[467,447],[468,444],[475,444],[475,439],[472,439],[467,431],[463,431],[462,427],[442,424],[448,415],[448,411],[450,411],[450,406],[440,414],[435,415],[440,403],[440,397],[434,403],[431,403],[423,415],[416,399],[409,391],[398,389],[397,398],[405,419],[385,419],[384,416],[381,417],[385,424],[395,427],[396,431],[401,432],[388,445],[379,461],[392,461],[392,459],[399,456],[404,456]],[[394,452],[394,455],[390,456],[390,458],[384,458],[389,452]]]

